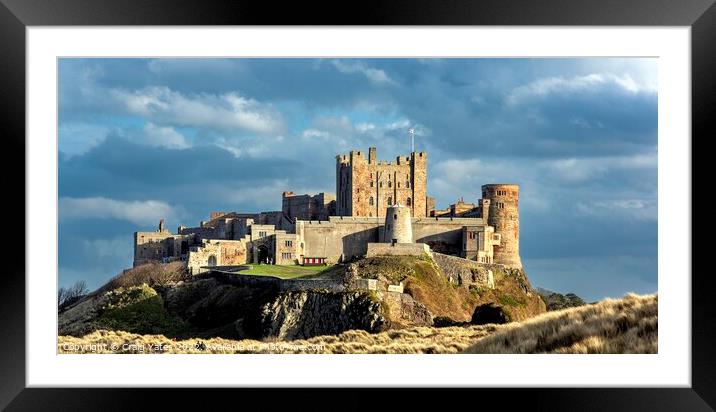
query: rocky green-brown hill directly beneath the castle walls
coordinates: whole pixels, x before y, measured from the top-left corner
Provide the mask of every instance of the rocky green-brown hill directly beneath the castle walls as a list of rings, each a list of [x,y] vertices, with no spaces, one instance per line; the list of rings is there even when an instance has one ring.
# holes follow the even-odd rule
[[[545,312],[523,271],[494,266],[489,282],[487,273],[475,262],[427,254],[359,259],[294,279],[222,272],[185,277],[176,265],[147,265],[63,308],[58,329],[76,337],[116,330],[177,339],[292,340],[430,326],[434,319],[458,326],[474,321],[483,305],[504,321]],[[465,283],[465,276],[474,279]],[[366,279],[376,286],[367,288]],[[387,292],[399,284],[403,293]]]

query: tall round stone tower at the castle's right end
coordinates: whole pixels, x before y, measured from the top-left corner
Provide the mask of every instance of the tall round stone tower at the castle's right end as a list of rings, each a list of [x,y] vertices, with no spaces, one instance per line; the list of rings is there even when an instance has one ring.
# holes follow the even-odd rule
[[[493,248],[495,263],[522,268],[520,259],[520,187],[516,184],[482,186],[482,198],[490,200],[487,224],[500,235],[500,245]],[[484,215],[483,215],[484,218]]]

